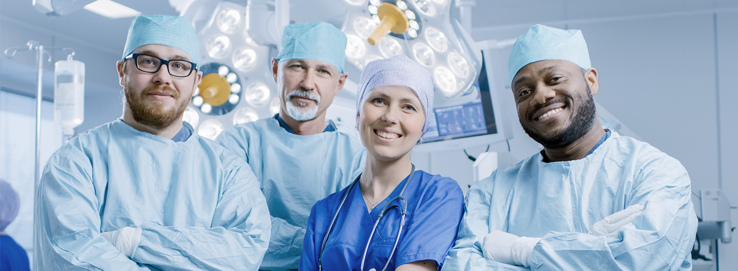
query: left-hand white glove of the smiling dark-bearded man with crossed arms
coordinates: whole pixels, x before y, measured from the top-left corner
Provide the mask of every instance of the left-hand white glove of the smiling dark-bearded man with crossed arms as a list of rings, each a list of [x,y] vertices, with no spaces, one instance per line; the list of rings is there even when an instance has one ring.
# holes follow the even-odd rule
[[[482,254],[484,258],[503,264],[531,266],[533,247],[540,238],[517,236],[501,230],[492,230],[484,236]]]

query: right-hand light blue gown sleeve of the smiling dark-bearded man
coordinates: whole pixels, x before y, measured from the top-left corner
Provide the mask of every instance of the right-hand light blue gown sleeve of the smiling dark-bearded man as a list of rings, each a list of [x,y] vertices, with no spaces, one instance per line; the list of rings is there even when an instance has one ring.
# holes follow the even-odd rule
[[[635,165],[621,166],[641,170],[623,208],[644,205],[643,214],[635,217],[632,225],[620,228],[613,238],[548,233],[534,247],[531,270],[691,269],[689,253],[697,217],[686,169],[667,155],[649,154],[627,162]]]

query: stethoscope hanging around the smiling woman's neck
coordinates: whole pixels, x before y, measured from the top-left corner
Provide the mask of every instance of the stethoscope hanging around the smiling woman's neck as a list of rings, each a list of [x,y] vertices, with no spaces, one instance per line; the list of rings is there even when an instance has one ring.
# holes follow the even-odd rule
[[[382,211],[379,212],[379,217],[376,218],[376,222],[374,222],[374,227],[371,229],[371,233],[369,234],[369,240],[367,241],[367,246],[364,247],[364,254],[362,254],[362,266],[361,271],[364,271],[364,260],[367,257],[367,251],[369,250],[369,244],[371,244],[371,239],[374,236],[374,232],[376,231],[376,226],[379,225],[379,220],[382,220],[382,217],[384,217],[384,214],[387,214],[387,211],[389,211],[391,208],[397,207],[399,208],[399,205],[392,205],[392,203],[395,200],[402,200],[402,208],[400,209],[401,219],[400,219],[400,229],[397,230],[397,237],[395,238],[395,245],[392,247],[392,252],[390,252],[390,257],[387,258],[387,264],[384,264],[384,268],[382,268],[382,271],[387,270],[387,267],[390,265],[390,261],[392,261],[392,256],[395,254],[395,250],[397,249],[397,244],[400,242],[400,235],[402,233],[402,226],[405,225],[405,214],[407,213],[407,199],[405,197],[402,197],[402,193],[407,189],[407,184],[410,183],[410,180],[413,180],[413,175],[415,175],[415,164],[413,165],[413,169],[410,172],[410,175],[407,176],[407,182],[405,182],[404,186],[402,186],[402,190],[400,190],[400,194],[397,197],[393,197],[392,200],[390,200],[387,205],[384,205],[384,208],[382,208]],[[343,206],[343,203],[346,201],[346,198],[348,197],[348,194],[351,194],[351,189],[354,189],[354,186],[356,186],[356,183],[359,183],[359,178],[361,178],[362,175],[359,174],[359,176],[356,177],[356,180],[354,180],[354,183],[351,183],[351,186],[348,186],[348,190],[346,191],[346,194],[343,195],[343,198],[341,199],[341,203],[338,204],[338,209],[336,210],[336,214],[333,215],[333,219],[331,219],[331,224],[328,225],[328,231],[325,233],[325,237],[323,237],[323,244],[320,245],[320,254],[318,254],[318,270],[323,271],[323,250],[325,249],[325,243],[328,242],[328,236],[331,235],[331,231],[333,231],[333,225],[336,223],[336,219],[338,218],[338,214],[341,211],[341,207]],[[374,270],[374,269],[372,269]]]

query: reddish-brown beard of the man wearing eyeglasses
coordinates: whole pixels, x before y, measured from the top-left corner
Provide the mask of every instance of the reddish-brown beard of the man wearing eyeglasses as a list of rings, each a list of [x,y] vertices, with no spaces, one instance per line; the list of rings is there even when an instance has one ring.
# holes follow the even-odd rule
[[[138,97],[132,96],[132,91],[129,90],[127,85],[123,88],[125,103],[128,105],[128,108],[131,109],[131,115],[134,117],[134,120],[140,124],[154,127],[159,130],[169,127],[179,120],[189,102],[188,100],[184,100],[180,103],[179,92],[174,91],[166,85],[157,85],[145,88]],[[175,108],[164,111],[162,109],[163,105],[159,102],[154,102],[153,104],[145,104],[142,102],[146,98],[146,94],[154,91],[167,91],[170,94],[173,94],[174,100],[178,101],[178,104],[175,105]]]

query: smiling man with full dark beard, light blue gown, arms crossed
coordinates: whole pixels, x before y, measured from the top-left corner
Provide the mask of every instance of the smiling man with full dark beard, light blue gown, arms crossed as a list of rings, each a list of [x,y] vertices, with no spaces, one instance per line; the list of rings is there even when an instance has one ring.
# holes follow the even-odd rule
[[[508,72],[520,124],[543,150],[469,189],[443,270],[691,270],[689,175],[602,129],[582,32],[531,27]]]

